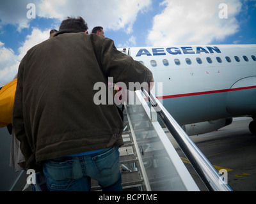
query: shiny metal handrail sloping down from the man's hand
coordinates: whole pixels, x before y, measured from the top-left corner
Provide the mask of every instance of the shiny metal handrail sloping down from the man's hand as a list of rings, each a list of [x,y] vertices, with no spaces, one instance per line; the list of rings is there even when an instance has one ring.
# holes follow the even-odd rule
[[[148,94],[145,89],[142,89],[142,91],[150,102],[150,105],[156,110],[157,115],[159,115],[166,128],[168,128],[173,138],[175,138],[176,142],[179,144],[180,149],[184,152],[207,189],[209,189],[209,191],[232,191],[227,182],[223,180],[218,171],[216,171],[214,166],[212,166],[204,154],[202,154],[176,120],[173,119],[172,115],[164,108],[156,96],[151,92]]]

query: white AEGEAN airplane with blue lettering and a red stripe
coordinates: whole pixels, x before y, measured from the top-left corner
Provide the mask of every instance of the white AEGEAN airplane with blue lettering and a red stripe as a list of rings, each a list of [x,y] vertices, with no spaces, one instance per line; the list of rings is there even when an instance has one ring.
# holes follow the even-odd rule
[[[191,135],[252,117],[256,135],[256,45],[118,48],[152,71],[166,110]]]

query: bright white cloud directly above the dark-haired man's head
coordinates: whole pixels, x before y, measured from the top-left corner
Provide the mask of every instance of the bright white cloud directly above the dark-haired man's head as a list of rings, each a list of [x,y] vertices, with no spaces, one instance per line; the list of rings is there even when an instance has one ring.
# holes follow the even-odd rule
[[[137,14],[147,10],[150,4],[151,0],[44,0],[37,14],[40,17],[59,18],[60,20],[70,16],[81,16],[88,23],[89,30],[100,25],[105,31],[125,29],[129,34],[132,32],[132,25]]]

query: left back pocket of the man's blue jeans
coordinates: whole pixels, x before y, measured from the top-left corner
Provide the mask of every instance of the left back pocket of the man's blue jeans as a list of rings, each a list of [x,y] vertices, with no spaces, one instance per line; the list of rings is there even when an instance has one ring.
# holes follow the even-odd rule
[[[65,190],[73,182],[72,159],[50,159],[44,163],[47,186],[52,190]]]

